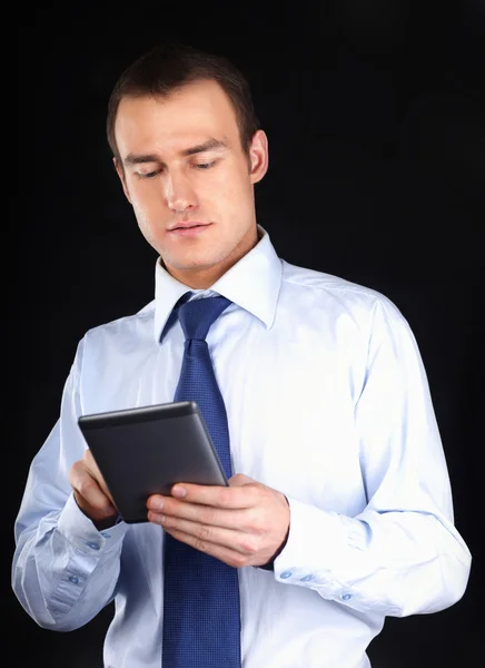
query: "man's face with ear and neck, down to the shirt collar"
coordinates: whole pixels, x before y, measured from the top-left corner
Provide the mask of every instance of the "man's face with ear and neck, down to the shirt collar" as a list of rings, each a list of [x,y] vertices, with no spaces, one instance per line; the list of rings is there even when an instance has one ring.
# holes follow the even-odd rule
[[[267,138],[242,150],[236,114],[215,81],[167,98],[123,98],[116,118],[125,194],[167,271],[189,287],[212,285],[257,243],[254,184],[266,174]],[[199,224],[181,232],[182,223]]]

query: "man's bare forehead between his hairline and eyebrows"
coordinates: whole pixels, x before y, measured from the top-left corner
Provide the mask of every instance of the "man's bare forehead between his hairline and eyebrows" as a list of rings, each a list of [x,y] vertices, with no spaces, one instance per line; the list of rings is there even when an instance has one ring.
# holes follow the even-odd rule
[[[207,137],[239,139],[236,112],[216,81],[196,81],[167,97],[128,97],[118,107],[115,135],[121,157],[182,150]]]

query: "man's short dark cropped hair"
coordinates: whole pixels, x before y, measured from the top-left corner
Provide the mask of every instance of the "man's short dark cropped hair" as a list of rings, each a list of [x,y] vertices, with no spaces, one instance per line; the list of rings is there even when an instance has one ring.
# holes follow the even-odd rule
[[[109,101],[107,117],[108,144],[119,160],[115,137],[118,107],[126,97],[167,97],[187,84],[214,80],[228,96],[236,112],[242,150],[249,146],[259,121],[253,106],[249,84],[239,69],[224,56],[216,56],[190,45],[167,42],[152,47],[119,77]]]

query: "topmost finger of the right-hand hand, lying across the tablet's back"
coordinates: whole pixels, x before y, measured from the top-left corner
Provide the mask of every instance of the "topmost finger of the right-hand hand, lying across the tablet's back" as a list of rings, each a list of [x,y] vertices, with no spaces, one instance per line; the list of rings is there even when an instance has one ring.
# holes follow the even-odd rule
[[[182,482],[175,484],[171,493],[174,497],[191,503],[228,509],[251,508],[258,498],[255,484],[219,487]]]

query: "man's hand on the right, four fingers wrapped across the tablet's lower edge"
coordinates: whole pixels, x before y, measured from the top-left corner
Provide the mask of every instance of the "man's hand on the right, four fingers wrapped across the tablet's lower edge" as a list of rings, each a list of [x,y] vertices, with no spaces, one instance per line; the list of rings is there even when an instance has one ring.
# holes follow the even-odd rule
[[[171,494],[148,499],[148,520],[228,566],[264,566],[287,538],[286,497],[241,473],[229,487],[177,483]]]

